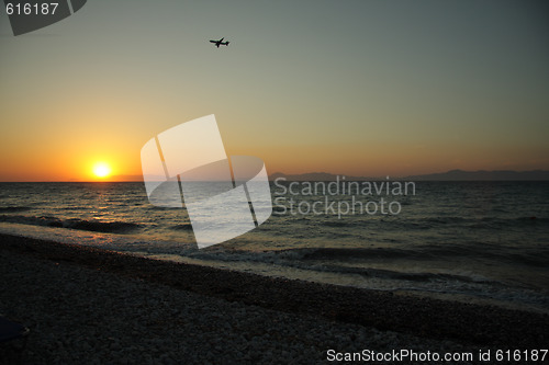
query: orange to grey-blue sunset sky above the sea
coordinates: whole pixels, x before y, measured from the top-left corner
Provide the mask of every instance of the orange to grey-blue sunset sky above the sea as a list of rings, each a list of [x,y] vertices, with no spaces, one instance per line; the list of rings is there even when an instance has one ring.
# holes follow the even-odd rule
[[[548,170],[548,65],[545,1],[89,0],[20,36],[1,10],[0,181],[138,179],[210,114],[270,174]]]

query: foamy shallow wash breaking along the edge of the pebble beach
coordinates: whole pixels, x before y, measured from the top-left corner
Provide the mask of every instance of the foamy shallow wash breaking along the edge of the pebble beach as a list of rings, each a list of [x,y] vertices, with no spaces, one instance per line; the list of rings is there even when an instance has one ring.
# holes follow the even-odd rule
[[[477,301],[502,307],[520,308],[549,312],[549,295],[528,288],[509,287],[502,283],[488,281],[485,277],[472,277],[471,281],[449,280],[429,276],[428,280],[403,280],[395,277],[395,272],[377,274],[376,269],[346,270],[323,261],[306,261],[303,252],[284,251],[232,251],[222,246],[198,250],[195,243],[173,241],[149,241],[132,236],[90,232],[76,229],[38,227],[21,224],[0,223],[0,232],[113,250],[155,260],[166,260],[189,264],[199,264],[223,270],[254,273],[272,277],[284,277],[307,282],[352,286],[395,293],[435,296],[442,299]],[[351,267],[352,269],[352,267]],[[463,273],[461,273],[463,274]],[[474,275],[471,275],[474,276]]]

